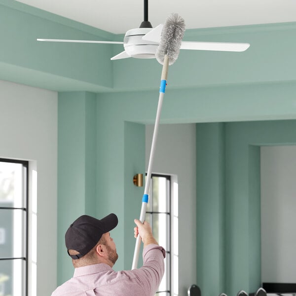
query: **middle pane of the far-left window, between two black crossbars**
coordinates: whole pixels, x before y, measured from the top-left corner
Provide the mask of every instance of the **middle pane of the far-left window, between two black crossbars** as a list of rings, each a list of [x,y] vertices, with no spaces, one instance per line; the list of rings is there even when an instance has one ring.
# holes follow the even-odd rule
[[[0,258],[24,257],[23,223],[23,210],[0,209]]]

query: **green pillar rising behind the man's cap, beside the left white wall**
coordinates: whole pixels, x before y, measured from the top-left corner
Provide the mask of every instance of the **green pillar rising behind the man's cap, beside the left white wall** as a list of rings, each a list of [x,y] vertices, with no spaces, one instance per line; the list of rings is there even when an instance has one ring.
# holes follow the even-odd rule
[[[65,232],[80,215],[96,215],[96,96],[86,92],[58,97],[58,283],[73,266]]]

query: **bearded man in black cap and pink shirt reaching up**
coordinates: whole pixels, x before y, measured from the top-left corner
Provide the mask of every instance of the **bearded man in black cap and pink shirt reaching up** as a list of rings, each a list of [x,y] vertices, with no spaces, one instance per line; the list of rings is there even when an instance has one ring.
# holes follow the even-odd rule
[[[153,296],[164,273],[165,250],[153,237],[148,222],[135,219],[135,237],[144,243],[143,266],[114,271],[118,255],[110,231],[118,223],[115,214],[98,220],[83,215],[68,228],[65,241],[75,267],[74,276],[52,296]]]

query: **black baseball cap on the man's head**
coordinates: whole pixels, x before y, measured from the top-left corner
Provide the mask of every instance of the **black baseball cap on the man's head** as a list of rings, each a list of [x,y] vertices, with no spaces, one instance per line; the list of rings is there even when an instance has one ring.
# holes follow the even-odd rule
[[[117,223],[117,216],[113,213],[101,220],[87,215],[80,216],[70,225],[65,234],[68,254],[69,250],[79,252],[77,255],[69,254],[69,256],[79,259],[86,255],[98,243],[102,235],[115,228]]]

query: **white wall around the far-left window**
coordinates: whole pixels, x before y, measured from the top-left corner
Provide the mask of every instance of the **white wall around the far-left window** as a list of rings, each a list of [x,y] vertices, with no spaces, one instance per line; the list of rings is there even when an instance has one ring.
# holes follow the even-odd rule
[[[50,295],[57,267],[56,92],[0,80],[0,157],[37,166],[37,296]]]

